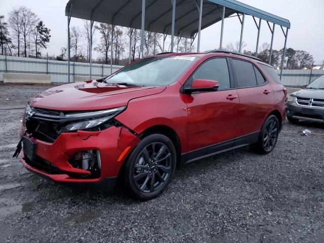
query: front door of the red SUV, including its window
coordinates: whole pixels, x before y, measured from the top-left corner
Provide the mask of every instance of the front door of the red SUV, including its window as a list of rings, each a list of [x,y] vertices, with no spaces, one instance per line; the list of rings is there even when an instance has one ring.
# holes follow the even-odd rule
[[[188,150],[198,150],[194,154],[188,154],[189,160],[214,152],[216,147],[211,145],[235,138],[238,95],[228,64],[229,59],[225,57],[208,59],[193,72],[185,84],[191,86],[194,79],[219,82],[218,91],[186,95]]]

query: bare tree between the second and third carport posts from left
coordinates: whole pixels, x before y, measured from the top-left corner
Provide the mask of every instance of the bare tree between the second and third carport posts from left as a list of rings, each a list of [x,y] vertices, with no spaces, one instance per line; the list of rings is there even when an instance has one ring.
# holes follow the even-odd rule
[[[96,26],[100,33],[100,42],[95,50],[102,54],[106,64],[108,64],[108,52],[111,46],[111,28],[111,24],[106,23],[100,23],[99,26]]]

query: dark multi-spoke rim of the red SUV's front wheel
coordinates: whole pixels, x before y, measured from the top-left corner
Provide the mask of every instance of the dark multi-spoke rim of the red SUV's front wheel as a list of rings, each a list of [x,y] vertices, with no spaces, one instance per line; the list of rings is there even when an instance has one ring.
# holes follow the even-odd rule
[[[153,192],[170,177],[172,156],[169,147],[160,142],[147,145],[137,156],[133,180],[142,192]]]

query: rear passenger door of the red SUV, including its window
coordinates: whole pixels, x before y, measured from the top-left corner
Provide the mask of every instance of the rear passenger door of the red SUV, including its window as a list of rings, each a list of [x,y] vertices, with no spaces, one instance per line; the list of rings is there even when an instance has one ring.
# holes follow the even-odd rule
[[[272,87],[252,62],[232,58],[231,63],[239,96],[237,137],[249,135],[244,138],[257,139],[256,132],[261,130],[264,120],[273,109]]]

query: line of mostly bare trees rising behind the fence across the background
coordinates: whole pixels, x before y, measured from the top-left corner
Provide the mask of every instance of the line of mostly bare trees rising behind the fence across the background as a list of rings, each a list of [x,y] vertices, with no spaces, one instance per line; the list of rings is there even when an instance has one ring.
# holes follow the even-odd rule
[[[0,50],[2,55],[23,56],[42,58],[42,50],[47,48],[50,42],[50,29],[45,26],[35,13],[30,9],[21,6],[13,8],[8,14],[8,22],[5,16],[0,15]],[[111,39],[111,33],[113,38]],[[92,37],[92,38],[91,38]],[[131,39],[130,39],[131,38]],[[92,43],[91,42],[92,39]],[[144,32],[144,56],[155,55],[160,52],[170,52],[171,44],[164,45],[165,36],[152,31]],[[130,46],[131,41],[131,46]],[[93,62],[110,64],[110,53],[112,49],[113,64],[126,65],[131,61],[140,58],[141,30],[114,26],[107,23],[94,22],[91,28],[89,20],[83,20],[83,26],[71,26],[70,31],[70,61],[90,62],[90,47],[99,55]],[[195,47],[190,38],[175,36],[174,51],[194,52]],[[246,48],[242,43],[242,50]],[[229,43],[226,48],[228,51],[238,52],[239,42]],[[67,60],[67,43],[61,48],[54,59]],[[272,50],[271,65],[280,67],[281,50]],[[255,52],[244,50],[244,54],[255,55]],[[270,58],[270,44],[263,43],[258,50],[258,58],[268,63]],[[287,48],[284,57],[284,68],[301,69],[310,67],[313,56],[303,50]]]

